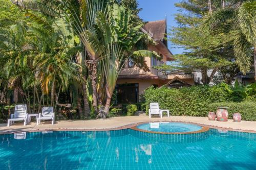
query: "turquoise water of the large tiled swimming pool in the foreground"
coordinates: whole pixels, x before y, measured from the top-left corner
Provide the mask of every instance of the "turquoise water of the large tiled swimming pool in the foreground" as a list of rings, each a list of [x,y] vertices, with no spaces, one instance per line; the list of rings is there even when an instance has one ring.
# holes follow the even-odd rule
[[[256,169],[256,133],[220,132],[57,131],[26,133],[26,139],[5,134],[0,169]]]

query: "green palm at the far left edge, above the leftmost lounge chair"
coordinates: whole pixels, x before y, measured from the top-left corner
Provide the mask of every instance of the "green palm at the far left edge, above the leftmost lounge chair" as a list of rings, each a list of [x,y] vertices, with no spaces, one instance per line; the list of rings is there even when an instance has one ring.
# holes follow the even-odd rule
[[[28,36],[28,25],[24,21],[16,21],[10,26],[0,28],[0,53],[8,58],[5,64],[8,86],[18,89],[30,108],[29,90],[34,86],[33,78],[33,45]],[[22,98],[23,99],[23,98]],[[28,110],[30,112],[30,109]]]

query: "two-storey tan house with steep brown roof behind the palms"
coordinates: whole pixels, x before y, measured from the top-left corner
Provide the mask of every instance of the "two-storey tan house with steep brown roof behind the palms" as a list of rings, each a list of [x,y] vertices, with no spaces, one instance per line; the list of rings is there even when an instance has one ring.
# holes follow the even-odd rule
[[[166,74],[153,68],[174,60],[172,52],[168,50],[166,40],[166,19],[147,22],[143,29],[158,42],[156,46],[148,45],[148,50],[157,52],[162,60],[158,61],[155,58],[146,57],[144,61],[150,71],[140,69],[134,65],[133,61],[125,61],[116,82],[117,103],[119,104],[140,102],[140,95],[150,86],[161,87],[166,84],[169,87],[177,88],[191,86],[195,82],[193,74],[185,74],[184,72]],[[172,85],[173,83],[175,85]]]

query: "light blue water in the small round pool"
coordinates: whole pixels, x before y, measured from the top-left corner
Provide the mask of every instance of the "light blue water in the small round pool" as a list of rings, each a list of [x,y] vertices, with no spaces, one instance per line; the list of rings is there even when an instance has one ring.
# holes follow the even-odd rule
[[[202,129],[201,126],[176,122],[146,123],[137,126],[138,129],[155,132],[193,132]]]

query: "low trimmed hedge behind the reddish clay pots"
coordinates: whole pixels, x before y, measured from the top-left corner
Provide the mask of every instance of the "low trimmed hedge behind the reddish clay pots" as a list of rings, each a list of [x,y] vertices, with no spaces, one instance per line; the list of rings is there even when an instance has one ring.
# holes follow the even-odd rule
[[[241,103],[212,103],[209,104],[209,111],[216,112],[217,107],[228,107],[228,118],[232,119],[234,113],[240,113],[242,120],[256,121],[256,102],[241,102]]]

